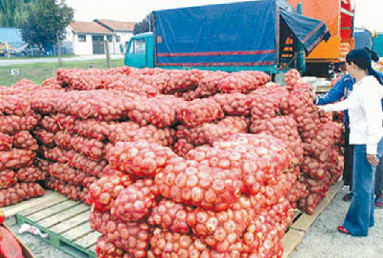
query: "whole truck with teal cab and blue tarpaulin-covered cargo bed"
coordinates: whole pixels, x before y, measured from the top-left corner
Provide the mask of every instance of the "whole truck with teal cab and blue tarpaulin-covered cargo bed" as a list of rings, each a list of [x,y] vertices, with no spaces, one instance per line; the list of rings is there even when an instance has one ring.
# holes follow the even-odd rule
[[[329,30],[286,0],[258,0],[155,11],[154,32],[130,39],[125,65],[137,68],[257,70],[296,67]],[[304,60],[303,60],[304,62]]]

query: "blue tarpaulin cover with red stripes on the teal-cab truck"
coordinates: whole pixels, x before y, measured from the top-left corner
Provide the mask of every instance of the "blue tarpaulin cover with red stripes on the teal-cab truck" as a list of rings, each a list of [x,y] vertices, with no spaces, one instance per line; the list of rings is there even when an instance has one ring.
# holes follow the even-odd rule
[[[285,0],[155,11],[157,66],[261,66],[277,63],[280,23],[312,51],[329,31]]]

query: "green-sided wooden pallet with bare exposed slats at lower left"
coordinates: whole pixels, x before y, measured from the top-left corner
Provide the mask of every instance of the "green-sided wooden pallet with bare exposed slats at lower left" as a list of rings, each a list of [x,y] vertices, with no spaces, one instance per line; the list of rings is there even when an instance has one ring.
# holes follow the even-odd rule
[[[100,233],[90,228],[90,207],[58,196],[20,210],[16,214],[17,224],[28,223],[39,228],[49,235],[48,239],[42,238],[44,241],[75,258],[96,258]]]

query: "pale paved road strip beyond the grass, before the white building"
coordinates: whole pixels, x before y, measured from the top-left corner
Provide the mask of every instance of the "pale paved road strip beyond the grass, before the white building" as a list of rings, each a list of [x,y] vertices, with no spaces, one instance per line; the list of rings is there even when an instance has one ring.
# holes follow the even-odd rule
[[[123,59],[123,55],[111,55],[111,59]],[[87,60],[98,60],[106,59],[105,55],[90,55],[90,56],[75,56],[72,58],[63,58],[63,62],[69,61],[87,61]],[[26,58],[26,59],[3,59],[0,60],[0,66],[10,66],[13,64],[36,64],[36,63],[55,63],[57,58]]]

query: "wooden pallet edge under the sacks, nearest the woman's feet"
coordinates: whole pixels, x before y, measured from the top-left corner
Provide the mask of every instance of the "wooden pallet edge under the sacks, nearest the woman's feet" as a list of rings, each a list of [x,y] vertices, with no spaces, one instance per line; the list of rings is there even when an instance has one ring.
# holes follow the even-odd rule
[[[326,194],[326,197],[324,197],[321,203],[316,207],[313,215],[296,215],[293,224],[288,228],[288,231],[282,238],[282,245],[284,248],[282,258],[289,258],[294,253],[296,247],[302,242],[304,235],[306,235],[306,232],[309,230],[311,225],[313,225],[316,219],[318,219],[319,215],[322,214],[323,210],[327,207],[331,200],[334,199],[342,186],[343,181],[339,181],[331,186]]]

